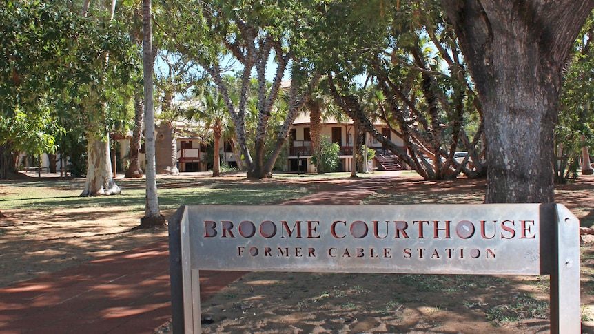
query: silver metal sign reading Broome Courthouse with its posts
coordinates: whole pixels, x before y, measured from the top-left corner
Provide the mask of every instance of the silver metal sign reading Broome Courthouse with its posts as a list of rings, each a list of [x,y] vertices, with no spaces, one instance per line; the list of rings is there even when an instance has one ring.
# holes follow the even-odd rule
[[[187,206],[170,220],[172,298],[176,289],[185,331],[196,333],[200,270],[550,274],[551,300],[571,304],[558,308],[562,322],[551,312],[551,331],[573,333],[577,317],[579,333],[577,226],[562,205]]]

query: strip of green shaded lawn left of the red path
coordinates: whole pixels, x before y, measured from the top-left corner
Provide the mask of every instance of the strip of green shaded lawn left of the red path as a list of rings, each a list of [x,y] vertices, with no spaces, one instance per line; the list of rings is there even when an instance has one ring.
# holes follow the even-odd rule
[[[329,187],[317,175],[283,174],[269,180],[251,181],[241,176],[212,178],[207,176],[185,178],[159,177],[158,200],[161,210],[170,211],[180,205],[199,204],[276,204],[300,198]],[[331,174],[323,178],[337,179],[345,174]],[[307,182],[299,182],[306,180]],[[96,198],[79,197],[84,180],[23,180],[0,182],[0,209],[34,208],[48,211],[57,207],[75,209],[84,207],[127,207],[130,212],[145,208],[145,180],[117,179],[122,194]]]

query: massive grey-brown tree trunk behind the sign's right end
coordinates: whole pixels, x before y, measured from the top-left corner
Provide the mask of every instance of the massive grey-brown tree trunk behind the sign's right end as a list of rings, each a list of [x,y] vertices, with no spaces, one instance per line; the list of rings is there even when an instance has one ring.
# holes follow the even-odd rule
[[[484,109],[485,202],[553,202],[562,70],[594,1],[441,3]]]

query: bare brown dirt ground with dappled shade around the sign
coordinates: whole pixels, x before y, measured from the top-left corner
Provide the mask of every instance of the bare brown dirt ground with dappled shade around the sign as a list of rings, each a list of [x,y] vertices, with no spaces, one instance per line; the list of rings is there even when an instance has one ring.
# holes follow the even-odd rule
[[[484,188],[484,180],[459,185]],[[391,191],[435,187],[413,178]],[[594,177],[560,187],[557,202],[590,215]],[[2,213],[0,286],[167,238],[165,228],[136,229],[139,217],[125,207]],[[594,333],[592,236],[582,246],[582,328]],[[203,301],[203,333],[548,333],[548,299],[548,276],[248,273]]]

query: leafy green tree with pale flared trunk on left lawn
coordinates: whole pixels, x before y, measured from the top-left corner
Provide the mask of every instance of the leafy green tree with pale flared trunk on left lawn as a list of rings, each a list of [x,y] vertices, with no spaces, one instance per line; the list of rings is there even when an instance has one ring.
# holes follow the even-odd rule
[[[25,120],[39,119],[39,106],[50,110],[50,118],[57,120],[54,125],[62,129],[70,129],[65,126],[69,120],[80,119],[87,126],[89,151],[93,149],[88,156],[95,158],[88,164],[90,177],[83,196],[94,196],[119,192],[113,178],[107,177],[111,169],[107,168],[106,102],[125,87],[134,63],[127,57],[130,45],[121,25],[109,24],[113,11],[99,8],[93,18],[85,19],[87,5],[88,1],[82,15],[74,13],[78,10],[73,3],[59,1],[8,1],[1,6],[0,21],[6,23],[1,29],[2,54],[6,56],[0,61],[0,91],[6,98],[0,105],[2,117],[9,122],[17,109],[25,113]],[[59,133],[45,132],[52,137]],[[4,152],[11,151],[6,148]]]

